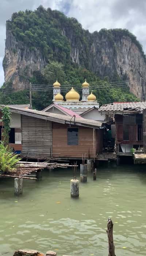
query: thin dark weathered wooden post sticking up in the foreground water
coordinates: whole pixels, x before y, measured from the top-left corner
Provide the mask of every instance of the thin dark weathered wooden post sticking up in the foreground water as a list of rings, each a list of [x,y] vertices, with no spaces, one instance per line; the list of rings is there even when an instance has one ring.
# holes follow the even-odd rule
[[[107,236],[108,236],[108,256],[116,256],[115,255],[115,246],[113,240],[113,223],[110,218],[107,221]]]

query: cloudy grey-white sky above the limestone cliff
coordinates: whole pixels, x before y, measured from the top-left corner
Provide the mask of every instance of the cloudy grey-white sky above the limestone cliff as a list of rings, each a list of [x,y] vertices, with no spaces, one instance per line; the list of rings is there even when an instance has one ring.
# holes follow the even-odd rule
[[[77,18],[90,32],[101,28],[129,29],[146,52],[146,0],[0,0],[0,85],[4,82],[2,61],[6,20],[13,12],[34,10],[41,4]]]

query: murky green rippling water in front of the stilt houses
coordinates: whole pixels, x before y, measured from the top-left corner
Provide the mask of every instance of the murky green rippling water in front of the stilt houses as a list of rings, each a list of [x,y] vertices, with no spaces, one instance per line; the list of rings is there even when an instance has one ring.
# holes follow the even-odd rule
[[[0,179],[0,255],[21,248],[107,256],[108,217],[116,255],[146,255],[146,167],[100,167],[96,181],[89,174],[80,183],[79,199],[70,198],[71,178],[69,169],[44,171],[40,182],[23,181],[21,198],[14,179]]]

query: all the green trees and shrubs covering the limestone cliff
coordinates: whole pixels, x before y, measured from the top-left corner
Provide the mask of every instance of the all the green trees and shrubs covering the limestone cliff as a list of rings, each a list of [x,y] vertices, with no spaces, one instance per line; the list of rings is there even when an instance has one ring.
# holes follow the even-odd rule
[[[97,74],[89,70],[89,44],[95,34],[99,38],[106,34],[107,39],[113,46],[115,37],[129,36],[144,56],[141,44],[128,30],[101,29],[100,32],[90,34],[88,30],[82,29],[81,24],[76,19],[68,18],[57,10],[53,11],[50,8],[46,10],[42,6],[39,6],[35,11],[26,10],[25,12],[19,11],[12,14],[11,21],[7,21],[7,30],[12,32],[17,41],[27,45],[30,51],[35,51],[36,48],[39,49],[48,63],[42,72],[35,71],[31,78],[27,77],[27,74],[25,77],[25,72],[23,72],[23,79],[26,78],[34,84],[53,84],[57,77],[61,84],[81,85],[84,79],[87,78],[88,82],[92,84],[91,87],[97,88],[93,92],[96,94],[100,105],[113,101],[138,100],[130,94],[127,88],[111,88],[110,78],[106,77],[101,80]],[[75,44],[80,44],[81,47],[80,67],[74,64],[70,58],[71,47],[66,34],[71,32],[74,35]],[[91,37],[89,37],[89,34]],[[13,49],[13,52],[15,54],[16,49]],[[120,80],[116,71],[113,71],[112,79]],[[122,79],[124,80],[126,77]],[[102,87],[103,89],[101,89]],[[69,87],[66,86],[66,91],[62,94],[65,95],[68,89]],[[8,87],[6,84],[1,89],[0,104],[29,103],[29,92],[27,90],[4,94],[5,90],[11,91],[10,86]],[[37,109],[43,109],[52,102],[52,98],[53,91],[33,92],[32,103]]]

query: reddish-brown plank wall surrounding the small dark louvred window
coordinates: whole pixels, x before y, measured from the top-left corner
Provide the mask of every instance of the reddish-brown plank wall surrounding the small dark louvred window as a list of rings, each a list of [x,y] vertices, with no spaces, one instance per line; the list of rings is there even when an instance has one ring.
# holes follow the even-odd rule
[[[53,122],[53,157],[82,158],[82,154],[88,157],[91,149],[91,157],[96,157],[96,130],[95,145],[93,150],[93,128],[78,127],[78,145],[68,145],[67,131],[69,125]],[[77,128],[77,126],[71,126]]]

